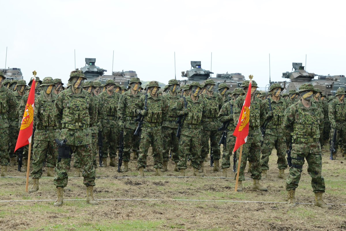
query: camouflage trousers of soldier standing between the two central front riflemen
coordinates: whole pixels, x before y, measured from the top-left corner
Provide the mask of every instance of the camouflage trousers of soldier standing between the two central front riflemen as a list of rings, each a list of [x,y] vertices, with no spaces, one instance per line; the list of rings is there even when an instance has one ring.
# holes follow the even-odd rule
[[[178,147],[179,139],[176,137],[176,128],[162,127],[162,143],[163,143],[163,161],[169,160],[170,149],[172,151],[172,159],[175,163],[178,163]]]

